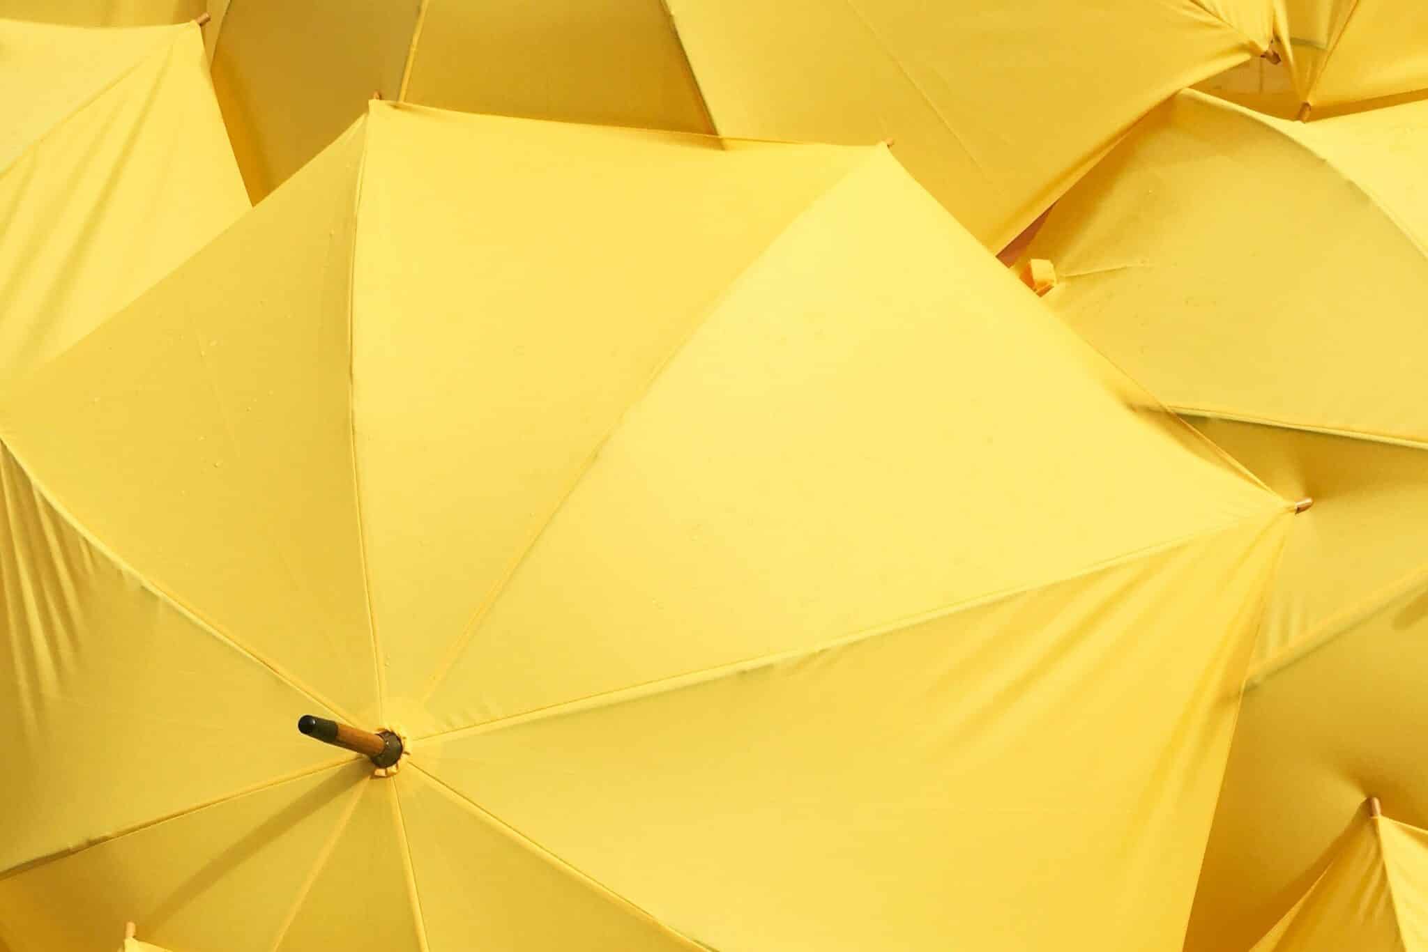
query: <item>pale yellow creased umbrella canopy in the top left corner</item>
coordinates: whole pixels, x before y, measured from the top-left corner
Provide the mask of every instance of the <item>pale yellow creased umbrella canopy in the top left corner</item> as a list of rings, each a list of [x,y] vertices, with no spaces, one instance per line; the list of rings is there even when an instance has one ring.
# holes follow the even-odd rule
[[[0,380],[83,337],[247,208],[193,23],[0,20]]]

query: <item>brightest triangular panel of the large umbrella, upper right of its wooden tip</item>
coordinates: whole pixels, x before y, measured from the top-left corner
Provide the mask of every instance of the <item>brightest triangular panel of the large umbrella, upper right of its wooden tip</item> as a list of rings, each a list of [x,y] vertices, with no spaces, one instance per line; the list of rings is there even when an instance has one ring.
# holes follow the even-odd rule
[[[1274,512],[1167,438],[1178,421],[1121,405],[1098,360],[878,154],[663,368],[428,715],[451,729],[807,648]]]

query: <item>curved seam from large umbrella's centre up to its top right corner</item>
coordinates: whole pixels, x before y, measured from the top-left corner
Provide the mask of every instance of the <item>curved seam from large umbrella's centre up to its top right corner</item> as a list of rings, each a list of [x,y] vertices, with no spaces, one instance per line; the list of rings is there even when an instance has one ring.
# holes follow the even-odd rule
[[[476,611],[471,614],[470,621],[467,621],[467,624],[463,628],[461,634],[451,642],[451,647],[443,655],[441,664],[431,674],[431,678],[427,682],[427,687],[426,687],[426,689],[423,691],[423,695],[421,695],[423,702],[428,701],[431,698],[431,695],[436,694],[437,688],[441,687],[441,682],[446,681],[447,675],[451,672],[451,668],[461,658],[461,654],[466,651],[467,645],[470,645],[471,639],[476,637],[477,631],[481,627],[481,622],[486,619],[486,617],[490,614],[491,608],[496,607],[496,602],[500,601],[501,595],[506,592],[506,588],[508,587],[511,578],[516,575],[516,572],[520,569],[520,567],[526,562],[526,558],[536,548],[536,544],[545,534],[545,530],[548,530],[550,525],[555,521],[555,517],[560,514],[561,508],[564,508],[565,501],[570,500],[570,497],[575,492],[575,490],[580,488],[580,484],[588,475],[590,468],[600,458],[600,452],[604,450],[605,444],[610,442],[610,440],[614,437],[614,434],[620,431],[621,425],[624,424],[625,417],[630,415],[630,411],[634,410],[644,400],[644,397],[654,388],[654,385],[658,383],[658,380],[664,374],[664,371],[670,367],[671,363],[674,363],[674,360],[680,355],[680,353],[684,351],[684,348],[690,344],[690,341],[693,341],[695,337],[698,337],[700,330],[708,323],[708,320],[714,314],[718,313],[720,305],[724,303],[724,300],[728,298],[728,295],[733,293],[733,290],[735,287],[738,287],[741,281],[745,280],[745,275],[750,274],[760,261],[764,260],[764,257],[768,254],[770,248],[773,248],[784,234],[788,234],[788,231],[798,221],[801,221],[814,208],[817,208],[821,203],[824,203],[828,198],[828,196],[831,196],[833,193],[835,193],[843,183],[845,183],[850,178],[853,178],[857,173],[860,173],[860,171],[871,167],[874,161],[877,161],[877,160],[880,160],[883,157],[887,157],[888,160],[891,160],[891,156],[888,153],[888,147],[885,144],[873,146],[873,147],[870,147],[870,151],[871,151],[871,157],[868,160],[853,166],[847,173],[844,173],[838,178],[838,181],[835,184],[833,184],[831,187],[828,187],[817,198],[814,198],[811,203],[808,203],[808,206],[804,207],[803,210],[800,210],[798,214],[793,216],[788,220],[788,223],[783,228],[780,228],[780,231],[773,238],[770,238],[770,241],[760,250],[758,254],[755,254],[748,261],[748,264],[744,265],[744,268],[734,277],[734,280],[730,281],[728,285],[724,287],[724,290],[721,290],[718,294],[715,294],[710,300],[708,305],[704,308],[704,313],[697,320],[694,320],[691,323],[688,334],[685,334],[684,338],[678,344],[675,344],[670,350],[670,353],[664,357],[664,360],[654,368],[654,371],[650,374],[650,378],[640,388],[640,391],[634,397],[634,400],[630,401],[630,404],[624,408],[624,411],[615,418],[615,421],[610,427],[610,430],[595,442],[594,448],[590,451],[590,455],[585,457],[584,462],[575,471],[575,475],[570,480],[570,484],[561,492],[560,498],[555,500],[555,504],[550,508],[548,514],[541,521],[540,527],[536,530],[536,532],[531,534],[530,541],[524,547],[521,547],[520,552],[511,561],[510,567],[497,579],[497,582],[496,582],[494,588],[491,589],[491,592],[477,605]]]

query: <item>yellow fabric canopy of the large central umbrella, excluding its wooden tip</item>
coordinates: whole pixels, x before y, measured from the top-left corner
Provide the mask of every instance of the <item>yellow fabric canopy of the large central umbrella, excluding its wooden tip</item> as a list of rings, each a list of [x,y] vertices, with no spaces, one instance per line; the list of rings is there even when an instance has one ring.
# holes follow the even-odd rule
[[[0,442],[44,949],[1174,952],[1292,518],[883,147],[381,103]]]

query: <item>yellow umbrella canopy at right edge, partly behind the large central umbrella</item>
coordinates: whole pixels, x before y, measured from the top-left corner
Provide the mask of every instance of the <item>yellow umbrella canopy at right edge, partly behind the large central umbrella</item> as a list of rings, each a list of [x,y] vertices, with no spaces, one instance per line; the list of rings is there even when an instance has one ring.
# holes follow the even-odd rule
[[[1428,824],[1428,101],[1184,93],[1051,213],[1044,300],[1289,498],[1191,949],[1250,948],[1368,795]],[[1252,861],[1250,858],[1252,856]]]

